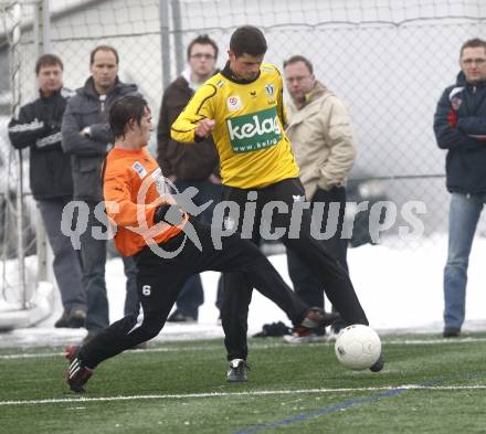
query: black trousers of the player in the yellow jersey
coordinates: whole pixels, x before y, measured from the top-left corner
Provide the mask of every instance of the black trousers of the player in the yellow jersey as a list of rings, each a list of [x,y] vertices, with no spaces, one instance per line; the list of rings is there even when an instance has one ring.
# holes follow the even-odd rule
[[[249,200],[254,198],[256,200]],[[298,178],[286,179],[275,184],[255,189],[243,190],[230,187],[223,187],[222,200],[233,201],[240,204],[240,220],[233,222],[231,213],[229,215],[230,223],[236,224],[237,230],[243,236],[251,237],[254,244],[258,245],[260,229],[264,219],[262,213],[266,203],[277,201],[287,205],[288,210],[278,210],[273,214],[272,227],[285,229],[285,235],[282,241],[287,251],[294,254],[314,272],[320,287],[324,287],[327,297],[331,304],[341,314],[346,324],[364,324],[368,325],[366,314],[359,303],[359,299],[352,287],[346,268],[329,253],[326,246],[314,239],[310,234],[310,212],[303,210],[302,225],[297,227],[298,237],[289,236],[288,230],[294,233],[296,231],[295,221],[292,221],[292,208],[294,201],[298,203],[305,197],[304,188]],[[243,219],[246,202],[255,202],[254,223],[249,227],[250,219]],[[251,208],[247,214],[251,213]],[[244,220],[244,224],[243,223]],[[266,225],[267,226],[267,225]],[[225,346],[228,359],[235,358],[246,359],[247,357],[247,314],[252,299],[252,285],[245,276],[239,273],[224,274],[224,295],[223,307],[221,309],[221,319],[225,335]]]

